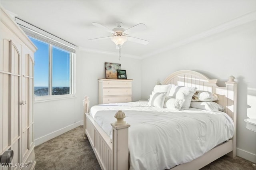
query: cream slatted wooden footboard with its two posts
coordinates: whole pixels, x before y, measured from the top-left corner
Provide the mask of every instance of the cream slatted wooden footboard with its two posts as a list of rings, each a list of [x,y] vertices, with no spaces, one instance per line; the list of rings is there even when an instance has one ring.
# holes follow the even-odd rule
[[[128,170],[128,128],[129,124],[118,124],[117,118],[112,125],[112,141],[104,130],[88,113],[89,99],[84,97],[84,139],[90,141],[92,149],[102,170]],[[122,120],[121,120],[122,122]],[[117,125],[118,124],[118,125]]]

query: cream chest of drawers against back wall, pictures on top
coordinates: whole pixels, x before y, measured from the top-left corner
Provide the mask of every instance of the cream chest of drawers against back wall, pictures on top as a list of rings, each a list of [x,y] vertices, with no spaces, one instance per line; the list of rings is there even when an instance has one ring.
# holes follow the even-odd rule
[[[98,103],[118,103],[132,101],[131,79],[99,79]]]

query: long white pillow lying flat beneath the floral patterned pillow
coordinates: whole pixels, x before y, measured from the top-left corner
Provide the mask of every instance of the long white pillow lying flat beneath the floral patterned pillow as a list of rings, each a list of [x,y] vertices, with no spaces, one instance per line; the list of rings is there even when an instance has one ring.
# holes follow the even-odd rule
[[[192,101],[190,103],[190,107],[212,112],[225,110],[222,105],[219,105],[218,103],[213,101]]]

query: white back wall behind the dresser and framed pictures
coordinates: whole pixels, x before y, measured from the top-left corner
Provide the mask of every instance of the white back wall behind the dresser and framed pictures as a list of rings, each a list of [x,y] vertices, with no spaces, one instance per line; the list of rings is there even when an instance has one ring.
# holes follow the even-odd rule
[[[118,54],[93,53],[81,51],[81,95],[87,95],[90,106],[98,104],[98,79],[105,78],[105,62],[120,63],[126,70],[127,79],[132,81],[132,101],[141,97],[141,60],[122,57],[118,61]]]

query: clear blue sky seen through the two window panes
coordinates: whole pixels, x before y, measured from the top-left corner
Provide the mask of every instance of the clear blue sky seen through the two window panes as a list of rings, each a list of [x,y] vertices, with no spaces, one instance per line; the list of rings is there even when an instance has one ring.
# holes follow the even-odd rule
[[[49,86],[49,49],[50,45],[29,37],[38,50],[34,54],[34,86]],[[52,47],[52,87],[70,86],[70,52]]]

